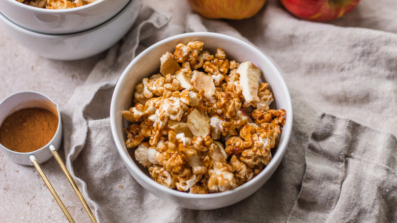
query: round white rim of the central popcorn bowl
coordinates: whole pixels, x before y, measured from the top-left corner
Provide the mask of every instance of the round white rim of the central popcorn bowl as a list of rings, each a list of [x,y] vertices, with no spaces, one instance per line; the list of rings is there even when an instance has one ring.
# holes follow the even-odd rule
[[[252,178],[251,180],[249,180],[248,182],[244,183],[243,185],[240,185],[232,190],[228,190],[228,191],[223,191],[223,192],[217,192],[217,193],[207,193],[207,194],[194,194],[194,193],[188,193],[188,192],[183,192],[183,191],[178,191],[175,189],[171,189],[168,187],[165,187],[157,182],[155,182],[153,179],[151,179],[149,176],[147,176],[144,172],[142,172],[138,166],[133,162],[132,157],[124,152],[123,147],[125,147],[124,143],[121,144],[120,142],[118,142],[116,139],[118,138],[116,132],[116,114],[117,114],[117,110],[115,108],[115,103],[116,103],[116,96],[117,94],[120,92],[121,90],[121,80],[124,79],[129,71],[131,70],[131,67],[134,66],[134,64],[140,60],[140,58],[144,57],[145,54],[147,54],[148,52],[150,52],[152,49],[170,42],[170,41],[174,41],[176,39],[180,39],[180,38],[186,38],[186,37],[215,37],[215,38],[221,38],[221,39],[228,39],[231,41],[237,41],[240,44],[243,45],[243,47],[248,47],[251,48],[254,51],[258,51],[260,54],[263,55],[263,59],[265,59],[265,61],[268,62],[268,65],[270,65],[274,70],[277,71],[278,76],[281,78],[281,86],[283,88],[283,91],[286,91],[286,96],[288,99],[288,108],[284,108],[289,110],[290,112],[287,113],[287,123],[285,126],[283,126],[283,130],[282,133],[284,140],[278,145],[277,147],[277,152],[276,154],[274,154],[272,160],[269,162],[269,164],[266,166],[266,168],[261,171],[261,173],[259,173],[256,177]],[[148,74],[149,76],[149,74]],[[116,144],[116,148],[119,152],[119,155],[121,156],[123,162],[125,165],[128,164],[129,168],[132,169],[134,171],[134,173],[136,175],[139,176],[140,179],[143,179],[144,181],[146,181],[147,183],[149,183],[150,185],[152,185],[155,189],[159,190],[160,192],[163,193],[168,193],[171,194],[172,196],[175,197],[179,197],[179,198],[185,198],[185,199],[200,199],[200,200],[205,200],[205,199],[213,199],[213,198],[221,198],[221,197],[226,197],[229,196],[230,194],[234,194],[234,193],[238,193],[239,191],[243,191],[248,189],[251,185],[256,184],[258,181],[260,181],[264,175],[271,171],[271,170],[275,170],[277,169],[277,166],[279,165],[282,157],[284,156],[286,150],[287,150],[287,146],[290,140],[290,135],[292,132],[292,122],[293,122],[293,115],[292,115],[293,111],[292,111],[292,101],[291,101],[291,95],[288,91],[287,85],[284,81],[284,79],[282,78],[282,75],[279,71],[279,69],[277,68],[277,66],[260,50],[258,49],[256,46],[253,46],[251,44],[248,44],[247,42],[237,39],[235,37],[232,36],[228,36],[228,35],[224,35],[224,34],[219,34],[219,33],[211,33],[211,32],[194,32],[194,33],[184,33],[184,34],[179,34],[179,35],[175,35],[172,37],[168,37],[166,39],[163,39],[153,45],[151,45],[150,47],[148,47],[147,49],[145,49],[143,52],[139,53],[131,62],[130,64],[125,68],[125,70],[123,71],[123,73],[121,74],[114,93],[112,94],[112,99],[111,99],[111,103],[110,103],[110,128],[111,128],[111,132],[112,132],[112,136],[114,138],[114,142]],[[273,161],[273,162],[272,162]],[[128,162],[128,163],[126,163]],[[127,167],[127,166],[126,166]],[[271,176],[269,176],[270,178]]]

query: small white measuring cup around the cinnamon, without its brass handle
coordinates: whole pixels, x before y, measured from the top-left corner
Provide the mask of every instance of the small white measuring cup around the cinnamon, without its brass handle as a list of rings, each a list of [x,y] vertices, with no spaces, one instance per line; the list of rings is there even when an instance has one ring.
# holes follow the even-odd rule
[[[39,107],[51,111],[56,117],[58,117],[58,127],[56,128],[56,132],[52,137],[51,141],[48,142],[47,145],[32,152],[15,152],[0,144],[0,148],[3,149],[5,154],[12,161],[22,165],[33,165],[30,160],[30,155],[34,155],[39,163],[47,161],[52,157],[49,146],[53,145],[55,149],[58,150],[62,143],[62,119],[61,113],[59,111],[59,106],[50,98],[39,92],[19,92],[10,95],[2,102],[0,102],[0,126],[3,124],[4,120],[15,111],[31,107]]]

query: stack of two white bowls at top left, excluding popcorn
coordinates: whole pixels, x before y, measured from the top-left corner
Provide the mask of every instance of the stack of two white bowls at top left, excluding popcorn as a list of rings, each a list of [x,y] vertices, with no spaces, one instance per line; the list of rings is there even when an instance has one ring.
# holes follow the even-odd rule
[[[71,9],[43,9],[0,0],[0,23],[19,44],[54,60],[78,60],[119,41],[135,22],[140,0],[98,0]]]

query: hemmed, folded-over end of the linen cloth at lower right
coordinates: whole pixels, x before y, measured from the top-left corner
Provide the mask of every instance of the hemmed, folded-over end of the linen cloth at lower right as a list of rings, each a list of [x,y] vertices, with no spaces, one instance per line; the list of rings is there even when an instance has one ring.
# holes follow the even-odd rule
[[[322,113],[305,161],[289,222],[397,221],[394,135]]]

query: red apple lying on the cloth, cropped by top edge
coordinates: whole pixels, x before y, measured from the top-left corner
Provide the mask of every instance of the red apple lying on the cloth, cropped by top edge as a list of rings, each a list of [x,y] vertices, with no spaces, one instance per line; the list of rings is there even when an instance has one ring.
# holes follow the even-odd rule
[[[280,0],[300,19],[324,22],[337,19],[354,9],[360,0]]]

